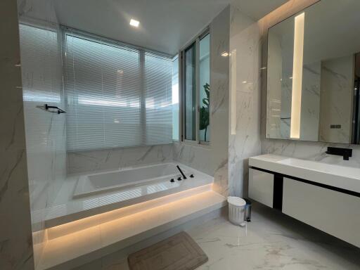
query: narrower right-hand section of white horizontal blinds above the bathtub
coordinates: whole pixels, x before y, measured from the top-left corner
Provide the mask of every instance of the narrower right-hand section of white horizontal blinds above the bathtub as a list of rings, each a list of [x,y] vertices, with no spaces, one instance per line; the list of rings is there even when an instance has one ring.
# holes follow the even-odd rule
[[[145,54],[146,143],[172,141],[172,59]]]

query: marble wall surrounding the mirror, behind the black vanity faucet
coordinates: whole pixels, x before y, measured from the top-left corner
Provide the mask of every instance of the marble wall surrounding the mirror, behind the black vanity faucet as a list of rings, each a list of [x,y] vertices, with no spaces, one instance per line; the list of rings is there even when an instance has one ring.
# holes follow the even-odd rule
[[[360,167],[360,146],[340,143],[319,143],[309,141],[290,141],[265,139],[266,132],[266,61],[267,61],[267,30],[269,27],[281,22],[290,15],[301,11],[302,9],[316,3],[319,0],[290,0],[275,11],[269,13],[258,21],[262,32],[262,115],[261,115],[261,134],[262,134],[262,153],[273,153],[276,155],[285,155],[289,157],[302,158],[307,160],[318,160],[332,164],[345,165],[349,167]],[[328,146],[345,147],[353,149],[353,158],[349,161],[342,160],[342,157],[326,155]]]

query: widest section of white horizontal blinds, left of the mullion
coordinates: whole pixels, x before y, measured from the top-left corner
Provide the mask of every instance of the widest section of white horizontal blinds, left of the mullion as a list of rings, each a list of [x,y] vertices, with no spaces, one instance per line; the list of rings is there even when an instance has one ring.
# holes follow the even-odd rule
[[[66,35],[68,150],[141,144],[139,52]]]

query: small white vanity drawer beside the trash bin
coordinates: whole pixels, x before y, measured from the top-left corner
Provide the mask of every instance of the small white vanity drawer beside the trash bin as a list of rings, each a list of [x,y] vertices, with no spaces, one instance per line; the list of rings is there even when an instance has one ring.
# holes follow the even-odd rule
[[[250,168],[249,197],[259,203],[273,207],[274,174]]]

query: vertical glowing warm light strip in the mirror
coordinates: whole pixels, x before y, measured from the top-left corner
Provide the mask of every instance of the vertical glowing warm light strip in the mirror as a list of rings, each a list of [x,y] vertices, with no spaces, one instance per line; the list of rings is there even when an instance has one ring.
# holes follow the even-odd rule
[[[293,58],[293,94],[291,97],[290,138],[300,139],[300,115],[302,94],[302,60],[304,56],[305,13],[295,17],[294,58]]]

